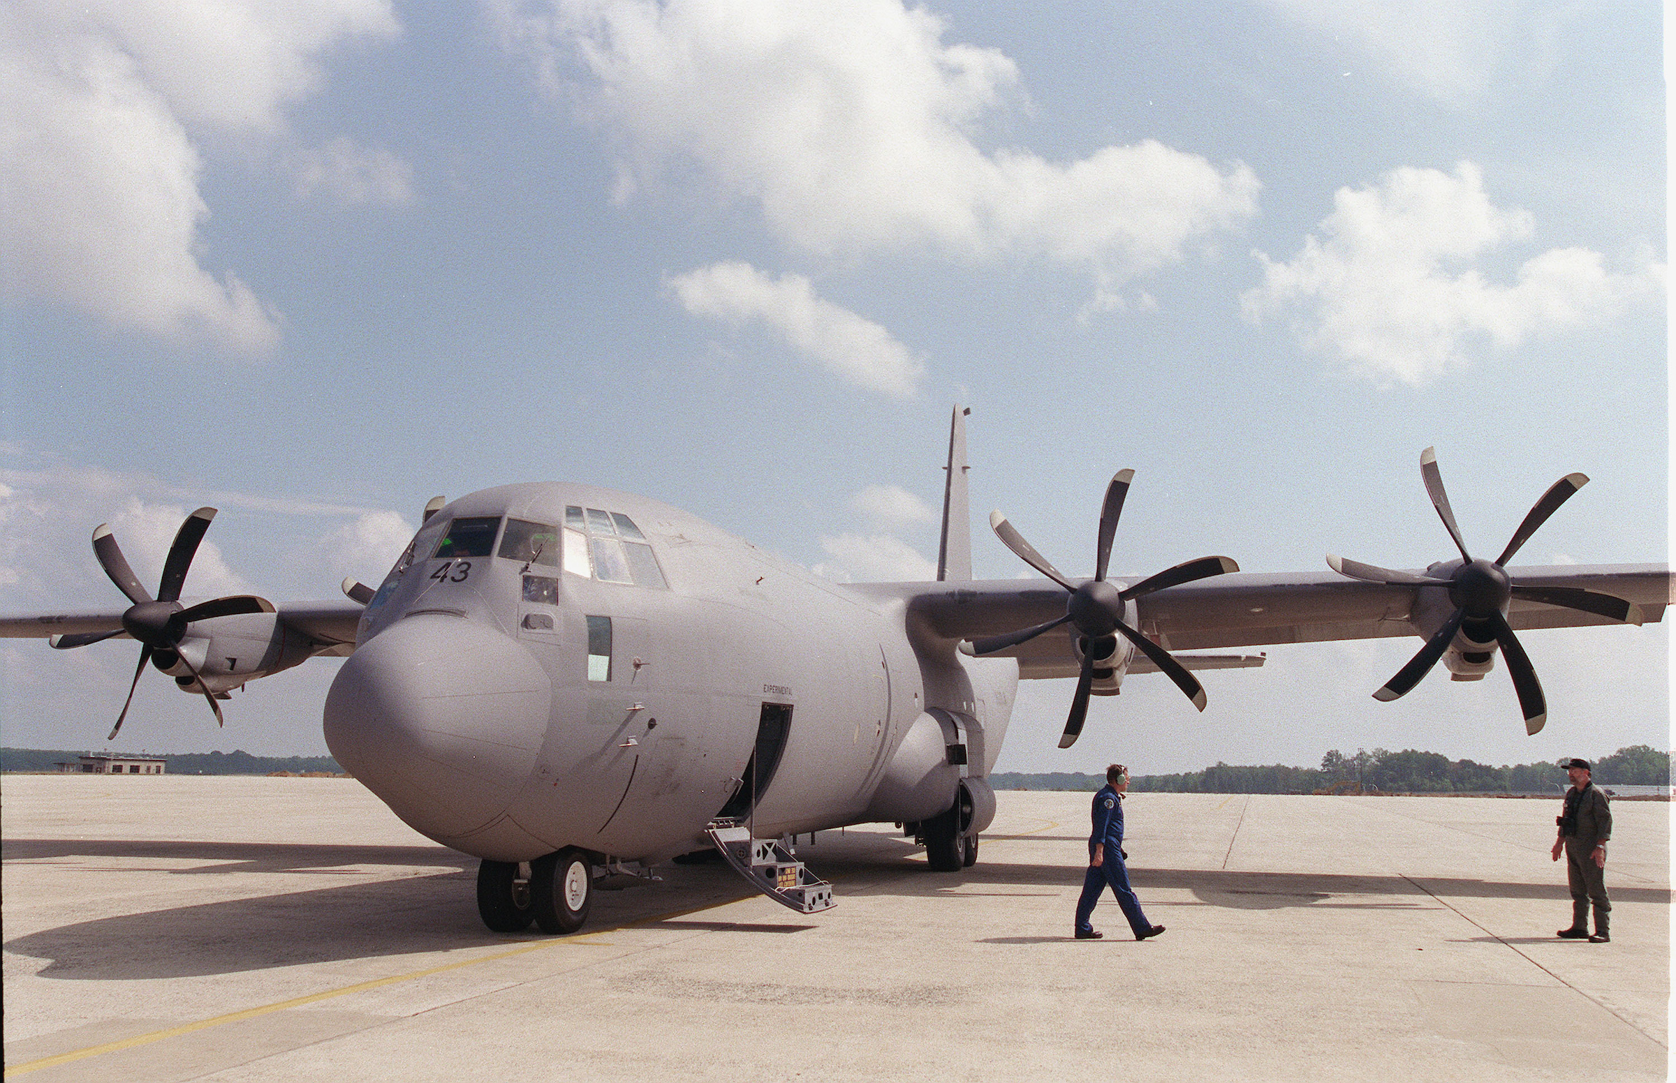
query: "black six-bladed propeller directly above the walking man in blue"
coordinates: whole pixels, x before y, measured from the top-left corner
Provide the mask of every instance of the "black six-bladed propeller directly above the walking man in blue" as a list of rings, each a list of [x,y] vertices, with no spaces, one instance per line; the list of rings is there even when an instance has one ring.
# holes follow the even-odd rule
[[[1141,598],[1143,594],[1151,594],[1170,586],[1182,583],[1192,583],[1193,579],[1203,579],[1207,576],[1220,576],[1223,572],[1239,571],[1239,564],[1225,556],[1207,556],[1197,561],[1187,561],[1185,564],[1177,564],[1168,567],[1156,576],[1141,579],[1135,586],[1118,588],[1106,581],[1106,567],[1111,562],[1111,539],[1118,531],[1118,516],[1123,512],[1123,499],[1130,492],[1130,482],[1135,479],[1135,470],[1118,470],[1113,475],[1111,484],[1106,485],[1106,500],[1099,509],[1099,541],[1094,551],[1094,577],[1079,584],[1071,583],[1058,567],[1048,562],[1048,559],[1036,552],[1036,549],[1024,541],[1024,537],[1012,529],[1007,517],[1001,512],[992,512],[989,516],[989,526],[1001,537],[1001,542],[1011,549],[1021,561],[1048,576],[1066,591],[1071,598],[1066,599],[1064,616],[1048,621],[1046,624],[1037,624],[1034,628],[1022,628],[1004,636],[992,636],[989,639],[975,639],[972,643],[972,654],[994,654],[996,651],[1004,651],[1009,646],[1017,646],[1019,643],[1027,643],[1044,631],[1051,631],[1059,624],[1071,624],[1079,634],[1078,646],[1083,653],[1083,670],[1076,678],[1076,695],[1071,696],[1071,713],[1064,721],[1064,735],[1059,738],[1061,748],[1069,748],[1076,743],[1076,738],[1083,733],[1083,723],[1088,718],[1088,696],[1094,685],[1094,660],[1110,656],[1111,649],[1116,646],[1115,633],[1123,634],[1130,643],[1133,643],[1146,658],[1153,661],[1177,688],[1193,701],[1193,706],[1205,710],[1205,688],[1198,680],[1187,671],[1175,658],[1170,656],[1161,646],[1130,628],[1123,621],[1123,606],[1133,598]]]

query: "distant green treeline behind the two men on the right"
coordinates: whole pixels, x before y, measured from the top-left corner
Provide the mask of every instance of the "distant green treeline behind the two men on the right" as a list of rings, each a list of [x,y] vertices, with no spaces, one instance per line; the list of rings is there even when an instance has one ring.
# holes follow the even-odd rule
[[[1602,785],[1671,785],[1671,753],[1648,745],[1619,748],[1594,760]],[[1098,790],[1104,775],[996,772],[997,790]],[[1567,783],[1555,763],[1490,767],[1451,760],[1436,752],[1374,748],[1344,755],[1332,750],[1321,767],[1217,763],[1182,775],[1135,775],[1130,790],[1153,793],[1314,793],[1317,790],[1379,790],[1383,793],[1557,793]]]

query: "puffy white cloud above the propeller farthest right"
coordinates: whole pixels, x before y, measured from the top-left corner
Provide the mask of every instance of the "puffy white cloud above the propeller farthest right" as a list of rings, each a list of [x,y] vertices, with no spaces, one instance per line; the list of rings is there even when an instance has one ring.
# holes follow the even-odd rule
[[[1480,341],[1505,350],[1599,326],[1663,290],[1664,266],[1651,256],[1611,271],[1601,253],[1555,248],[1505,285],[1477,266],[1532,233],[1529,213],[1490,203],[1472,162],[1453,174],[1403,167],[1341,187],[1319,236],[1292,259],[1255,253],[1264,283],[1240,303],[1252,321],[1284,315],[1306,346],[1353,375],[1423,385]]]

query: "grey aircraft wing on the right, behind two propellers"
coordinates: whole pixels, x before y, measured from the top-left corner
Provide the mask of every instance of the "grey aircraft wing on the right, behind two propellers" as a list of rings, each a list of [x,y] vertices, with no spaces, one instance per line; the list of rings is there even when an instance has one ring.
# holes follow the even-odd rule
[[[1520,584],[1622,598],[1636,603],[1648,623],[1663,619],[1671,601],[1671,572],[1664,564],[1527,566],[1508,572]],[[1064,616],[1068,598],[1051,583],[1017,579],[856,584],[853,589],[902,598],[910,633],[932,649],[1053,621]],[[1416,596],[1411,586],[1366,583],[1331,571],[1234,572],[1148,594],[1138,599],[1138,618],[1140,629],[1170,651],[1420,636],[1421,629],[1410,623]],[[1612,623],[1518,598],[1508,609],[1508,624],[1518,631]],[[1056,628],[997,654],[1017,658],[1024,678],[1076,676],[1068,629]]]

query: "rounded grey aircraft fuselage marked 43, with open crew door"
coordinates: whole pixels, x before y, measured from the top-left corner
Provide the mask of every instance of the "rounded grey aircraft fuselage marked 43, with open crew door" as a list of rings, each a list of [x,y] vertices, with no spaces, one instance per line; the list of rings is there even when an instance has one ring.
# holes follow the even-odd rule
[[[994,765],[1017,683],[952,648],[910,641],[888,589],[665,504],[503,485],[441,509],[385,577],[325,738],[468,854],[654,862],[719,814],[768,837],[947,808]]]

